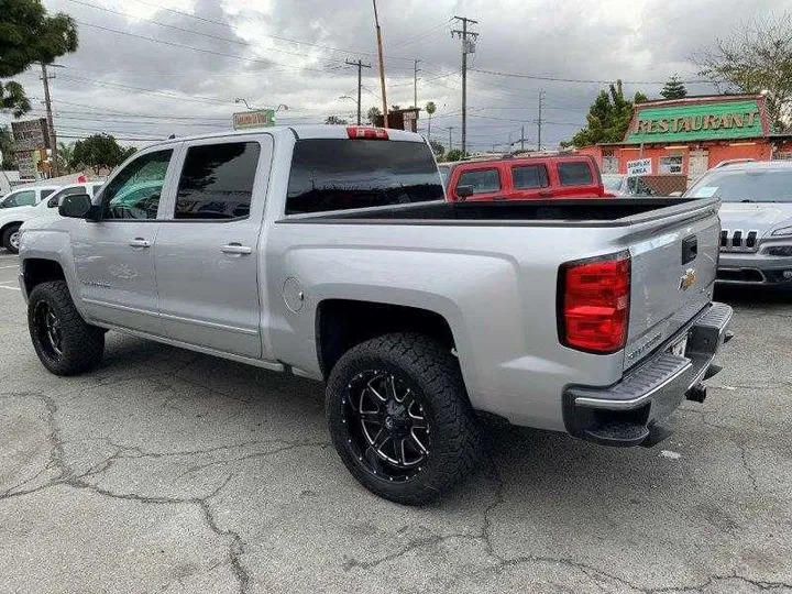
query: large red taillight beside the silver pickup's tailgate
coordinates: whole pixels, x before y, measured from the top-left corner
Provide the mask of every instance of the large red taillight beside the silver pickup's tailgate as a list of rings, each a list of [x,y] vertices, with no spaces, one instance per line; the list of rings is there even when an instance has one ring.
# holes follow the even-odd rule
[[[600,354],[623,349],[629,314],[629,254],[564,264],[559,275],[561,343]]]

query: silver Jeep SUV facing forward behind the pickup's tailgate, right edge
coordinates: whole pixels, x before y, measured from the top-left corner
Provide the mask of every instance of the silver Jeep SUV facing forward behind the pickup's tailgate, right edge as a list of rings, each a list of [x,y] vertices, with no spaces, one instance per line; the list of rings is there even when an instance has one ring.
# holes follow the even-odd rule
[[[685,194],[721,199],[717,280],[792,287],[792,163],[713,168]]]

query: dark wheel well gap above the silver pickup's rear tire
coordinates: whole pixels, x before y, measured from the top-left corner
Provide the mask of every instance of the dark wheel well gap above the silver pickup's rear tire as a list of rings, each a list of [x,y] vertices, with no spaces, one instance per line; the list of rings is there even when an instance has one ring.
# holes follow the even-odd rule
[[[453,349],[446,318],[416,307],[329,299],[317,310],[317,352],[327,378],[341,356],[355,344],[391,332],[418,332]]]

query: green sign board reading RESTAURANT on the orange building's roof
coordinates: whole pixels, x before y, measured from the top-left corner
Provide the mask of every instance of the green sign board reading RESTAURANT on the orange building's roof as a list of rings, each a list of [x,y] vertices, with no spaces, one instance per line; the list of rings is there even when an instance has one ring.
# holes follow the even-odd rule
[[[636,109],[627,142],[748,139],[765,133],[756,99]]]

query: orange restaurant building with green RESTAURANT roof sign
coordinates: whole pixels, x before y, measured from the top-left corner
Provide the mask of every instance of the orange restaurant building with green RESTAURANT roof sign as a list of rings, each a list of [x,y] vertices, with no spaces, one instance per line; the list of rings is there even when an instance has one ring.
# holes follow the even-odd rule
[[[792,158],[792,135],[773,134],[765,97],[717,95],[647,101],[635,108],[623,142],[580,148],[603,173],[627,173],[627,163],[651,160],[651,174],[693,180],[736,158]]]

